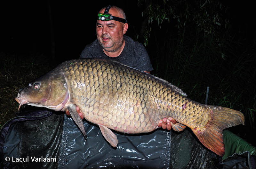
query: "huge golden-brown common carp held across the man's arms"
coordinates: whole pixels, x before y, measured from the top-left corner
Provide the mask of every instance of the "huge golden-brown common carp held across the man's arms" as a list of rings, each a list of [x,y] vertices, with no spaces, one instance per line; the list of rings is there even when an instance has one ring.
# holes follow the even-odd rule
[[[170,82],[110,60],[76,59],[58,67],[20,89],[17,102],[55,111],[68,111],[86,138],[80,108],[89,122],[99,125],[108,143],[116,147],[110,130],[147,133],[164,117],[172,117],[173,130],[187,126],[204,146],[225,153],[222,130],[244,124],[236,110],[192,101]]]

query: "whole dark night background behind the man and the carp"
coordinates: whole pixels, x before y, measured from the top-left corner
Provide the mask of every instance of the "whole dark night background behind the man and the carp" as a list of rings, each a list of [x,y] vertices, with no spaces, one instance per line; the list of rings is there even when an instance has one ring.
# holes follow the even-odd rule
[[[206,87],[210,86],[208,104],[243,112],[245,126],[232,131],[255,145],[252,139],[256,126],[253,3],[209,1],[208,6],[200,8],[204,1],[168,1],[173,2],[172,10],[180,16],[180,22],[172,15],[170,22],[158,25],[153,21],[147,26],[148,16],[142,17],[141,12],[148,8],[149,2],[162,1],[139,2],[140,6],[138,1],[1,2],[1,127],[17,112],[18,103],[13,98],[18,90],[59,63],[79,58],[84,47],[96,39],[98,11],[113,4],[126,13],[129,24],[126,35],[143,44],[151,28],[146,49],[154,68],[152,74],[172,82],[189,98],[201,103]],[[212,2],[220,2],[223,9],[215,9]],[[167,5],[159,8],[165,9]],[[196,19],[205,18],[206,13],[200,13],[201,9],[208,10],[210,17],[219,13],[222,22],[215,32],[205,33],[207,26],[202,30],[196,23]],[[183,22],[187,25],[182,26]]]

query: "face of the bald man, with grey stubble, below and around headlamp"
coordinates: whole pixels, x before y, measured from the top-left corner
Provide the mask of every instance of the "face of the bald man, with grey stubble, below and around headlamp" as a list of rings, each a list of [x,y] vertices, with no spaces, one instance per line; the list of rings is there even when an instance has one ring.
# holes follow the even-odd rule
[[[101,10],[100,13],[104,13],[104,10],[105,9]],[[115,17],[122,17],[112,8],[110,8],[109,13]],[[122,22],[97,20],[97,39],[105,51],[115,52],[122,46],[124,43],[124,33],[126,32],[123,27],[124,23]]]

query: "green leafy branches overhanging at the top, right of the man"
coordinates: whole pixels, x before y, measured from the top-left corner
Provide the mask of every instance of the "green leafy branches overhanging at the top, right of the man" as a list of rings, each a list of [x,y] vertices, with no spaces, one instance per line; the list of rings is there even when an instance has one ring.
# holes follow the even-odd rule
[[[144,34],[144,45],[148,45],[150,38],[151,25],[155,21],[159,28],[162,28],[163,23],[170,23],[178,29],[179,42],[182,44],[184,34],[191,26],[196,26],[197,34],[202,34],[204,37],[212,34],[214,40],[219,42],[221,46],[218,32],[221,25],[225,27],[229,20],[223,18],[223,13],[226,13],[226,8],[219,1],[200,0],[200,1],[143,1],[139,0],[138,5],[145,3],[146,8],[141,12],[141,15],[146,17],[148,25]],[[223,27],[223,26],[222,26]]]

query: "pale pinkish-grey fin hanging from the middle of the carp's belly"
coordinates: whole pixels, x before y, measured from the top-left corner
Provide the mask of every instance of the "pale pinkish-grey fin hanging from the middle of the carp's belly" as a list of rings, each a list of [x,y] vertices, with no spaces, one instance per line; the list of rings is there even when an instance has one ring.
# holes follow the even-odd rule
[[[113,131],[111,131],[108,127],[103,126],[103,125],[99,125],[100,126],[100,131],[102,133],[102,135],[104,136],[104,138],[108,141],[108,143],[112,146],[112,147],[116,147],[118,140],[116,135],[113,133]]]

